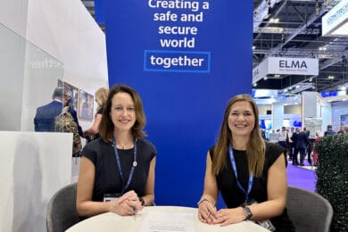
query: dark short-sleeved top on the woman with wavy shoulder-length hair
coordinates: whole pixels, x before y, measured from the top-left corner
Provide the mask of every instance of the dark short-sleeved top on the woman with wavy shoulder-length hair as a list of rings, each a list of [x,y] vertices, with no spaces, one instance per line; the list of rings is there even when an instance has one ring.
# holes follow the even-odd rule
[[[134,148],[118,149],[118,153],[123,179],[127,182],[133,164]],[[151,142],[144,138],[137,140],[137,167],[125,193],[134,190],[139,196],[145,194],[150,162],[156,153],[157,151]],[[105,143],[101,138],[95,139],[84,147],[82,156],[87,157],[95,165],[95,186],[92,200],[103,202],[104,194],[120,194],[122,181],[112,143]]]

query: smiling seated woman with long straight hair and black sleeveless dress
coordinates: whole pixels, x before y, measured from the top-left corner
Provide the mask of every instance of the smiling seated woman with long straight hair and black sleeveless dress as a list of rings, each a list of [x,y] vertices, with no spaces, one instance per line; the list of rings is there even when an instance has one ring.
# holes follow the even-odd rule
[[[251,95],[228,101],[218,141],[207,153],[198,219],[221,226],[254,220],[265,228],[294,231],[286,212],[284,148],[265,142],[258,122]],[[219,191],[226,208],[218,211]]]

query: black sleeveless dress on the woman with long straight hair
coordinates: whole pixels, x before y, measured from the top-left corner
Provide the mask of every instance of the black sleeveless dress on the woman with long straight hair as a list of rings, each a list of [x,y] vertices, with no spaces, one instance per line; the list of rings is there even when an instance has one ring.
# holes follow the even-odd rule
[[[210,149],[211,158],[213,157],[213,148]],[[283,153],[284,148],[266,142],[266,160],[261,178],[253,178],[253,187],[249,194],[249,199],[254,199],[258,203],[267,201],[267,179],[269,167],[277,161],[278,157]],[[245,151],[233,149],[236,160],[236,169],[240,184],[247,190],[249,180],[248,162]],[[229,159],[229,153],[226,153],[226,166],[220,170],[216,177],[217,184],[228,208],[239,207],[245,201],[244,192],[236,184],[236,176],[232,169]],[[283,214],[271,219],[272,224],[277,228],[277,231],[294,231],[294,225],[289,220],[286,209]]]

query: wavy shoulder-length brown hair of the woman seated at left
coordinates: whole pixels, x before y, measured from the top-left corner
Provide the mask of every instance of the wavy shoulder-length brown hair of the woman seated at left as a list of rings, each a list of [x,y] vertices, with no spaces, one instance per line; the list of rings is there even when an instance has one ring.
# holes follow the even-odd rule
[[[115,85],[109,92],[108,98],[105,104],[105,110],[103,113],[102,120],[99,125],[99,135],[102,139],[106,141],[112,140],[113,128],[112,118],[110,112],[112,110],[112,97],[118,93],[126,93],[130,95],[134,102],[134,110],[136,112],[136,122],[134,123],[133,128],[131,128],[131,133],[134,138],[145,137],[146,133],[143,130],[146,123],[146,117],[143,107],[143,102],[140,96],[137,94],[137,91],[131,87],[125,85]]]

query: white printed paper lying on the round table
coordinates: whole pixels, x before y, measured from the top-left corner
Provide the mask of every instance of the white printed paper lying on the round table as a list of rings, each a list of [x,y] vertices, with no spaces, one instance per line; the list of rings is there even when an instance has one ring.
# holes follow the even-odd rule
[[[140,232],[195,232],[193,213],[150,211],[142,222]]]

